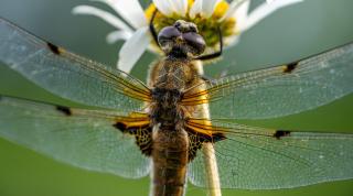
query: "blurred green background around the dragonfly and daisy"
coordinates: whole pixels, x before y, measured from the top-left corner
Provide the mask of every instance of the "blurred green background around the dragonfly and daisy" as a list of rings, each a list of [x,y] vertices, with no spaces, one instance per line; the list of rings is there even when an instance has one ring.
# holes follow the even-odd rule
[[[252,6],[256,7],[261,2],[255,0]],[[121,43],[108,45],[105,42],[106,34],[114,29],[96,18],[71,14],[74,6],[84,3],[89,2],[0,0],[0,17],[69,51],[115,66]],[[108,7],[98,6],[111,11]],[[308,0],[282,9],[243,34],[240,43],[228,50],[223,61],[206,66],[206,73],[217,77],[222,70],[237,73],[271,66],[352,42],[352,10],[351,0]],[[151,54],[143,55],[132,75],[145,79],[148,64],[153,57]],[[0,66],[0,94],[68,104],[3,66]],[[347,96],[312,111],[249,123],[282,129],[353,133],[352,117],[353,96]],[[87,172],[0,139],[0,196],[148,195],[148,177],[126,179]],[[205,190],[189,185],[186,195],[205,195]],[[353,181],[281,190],[224,190],[223,195],[351,196]]]

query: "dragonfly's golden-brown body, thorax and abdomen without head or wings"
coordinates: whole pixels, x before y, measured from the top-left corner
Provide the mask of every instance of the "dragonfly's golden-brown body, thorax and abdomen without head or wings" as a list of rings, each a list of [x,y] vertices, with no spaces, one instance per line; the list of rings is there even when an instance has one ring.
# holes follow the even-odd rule
[[[193,111],[178,101],[183,90],[200,81],[194,63],[186,59],[165,58],[151,67],[149,85],[156,100],[150,107],[154,196],[183,195],[190,145],[184,119]]]

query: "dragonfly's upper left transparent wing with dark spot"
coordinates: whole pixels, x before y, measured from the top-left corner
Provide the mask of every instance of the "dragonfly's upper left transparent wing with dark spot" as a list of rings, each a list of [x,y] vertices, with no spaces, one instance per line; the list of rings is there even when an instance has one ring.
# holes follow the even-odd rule
[[[0,19],[0,62],[36,85],[85,105],[136,111],[150,90],[131,76],[20,30]]]

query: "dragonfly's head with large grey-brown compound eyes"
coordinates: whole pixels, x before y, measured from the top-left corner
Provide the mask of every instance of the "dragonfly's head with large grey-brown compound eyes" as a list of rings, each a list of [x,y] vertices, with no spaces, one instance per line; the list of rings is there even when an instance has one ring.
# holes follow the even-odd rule
[[[163,28],[158,42],[167,56],[189,58],[201,55],[206,47],[197,26],[192,22],[178,20],[173,25]]]

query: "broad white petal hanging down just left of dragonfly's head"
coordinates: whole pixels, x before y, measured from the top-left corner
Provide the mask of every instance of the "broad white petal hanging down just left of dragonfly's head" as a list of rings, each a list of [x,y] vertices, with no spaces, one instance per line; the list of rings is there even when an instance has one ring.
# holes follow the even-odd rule
[[[137,30],[120,48],[118,69],[129,73],[150,43],[148,26]]]

